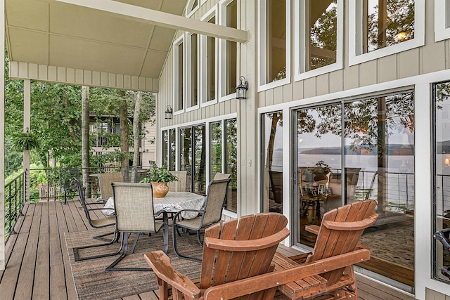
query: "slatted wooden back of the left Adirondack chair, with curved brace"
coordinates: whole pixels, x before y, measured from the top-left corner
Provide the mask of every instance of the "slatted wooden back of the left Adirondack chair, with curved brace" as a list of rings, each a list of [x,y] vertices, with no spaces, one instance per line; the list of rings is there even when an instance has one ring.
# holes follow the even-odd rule
[[[243,216],[240,220],[218,223],[205,230],[200,289],[207,289],[273,270],[271,261],[278,243],[289,235],[289,230],[286,228],[287,223],[287,219],[282,214],[266,213]],[[258,239],[263,237],[269,237],[271,242],[262,245],[259,243],[261,240],[258,241]],[[217,251],[217,247],[212,242],[214,239],[228,244],[228,249],[232,250]],[[229,242],[224,242],[224,240]],[[230,247],[231,241],[237,241],[236,247],[233,247],[234,244]],[[251,246],[250,249],[242,247],[243,244]],[[261,293],[269,293],[273,296],[272,293],[275,293],[275,289]],[[261,299],[257,295],[252,296],[255,297],[253,299]],[[264,294],[264,297],[266,296],[268,294]]]

